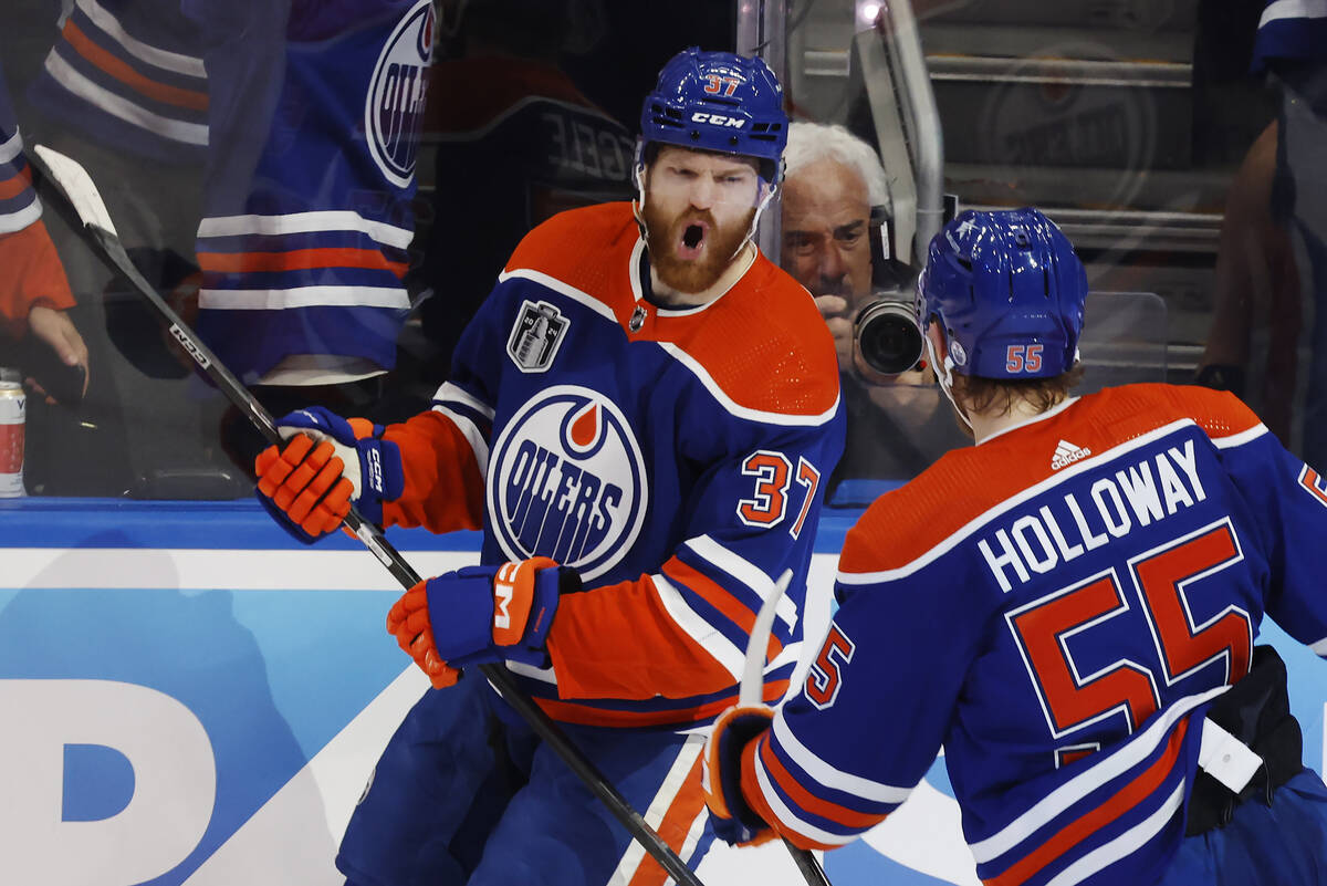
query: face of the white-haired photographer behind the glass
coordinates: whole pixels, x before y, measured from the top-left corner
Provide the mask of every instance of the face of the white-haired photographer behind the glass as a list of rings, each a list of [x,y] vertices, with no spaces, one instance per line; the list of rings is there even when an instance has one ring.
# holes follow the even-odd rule
[[[808,163],[783,183],[783,269],[812,296],[849,304],[871,292],[867,183],[837,160]]]

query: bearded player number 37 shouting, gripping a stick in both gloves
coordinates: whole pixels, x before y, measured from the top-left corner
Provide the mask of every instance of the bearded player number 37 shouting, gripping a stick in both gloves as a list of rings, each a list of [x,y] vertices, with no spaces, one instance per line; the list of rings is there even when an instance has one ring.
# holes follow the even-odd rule
[[[689,49],[645,99],[638,200],[518,247],[434,407],[374,427],[281,420],[260,499],[304,537],[346,501],[385,525],[483,528],[483,565],[421,582],[387,627],[435,687],[391,739],[337,858],[350,883],[662,883],[665,871],[478,671],[536,703],[689,863],[713,832],[697,727],[731,706],[776,578],[767,702],[798,659],[843,448],[833,342],[751,235],[787,118],[760,60]]]

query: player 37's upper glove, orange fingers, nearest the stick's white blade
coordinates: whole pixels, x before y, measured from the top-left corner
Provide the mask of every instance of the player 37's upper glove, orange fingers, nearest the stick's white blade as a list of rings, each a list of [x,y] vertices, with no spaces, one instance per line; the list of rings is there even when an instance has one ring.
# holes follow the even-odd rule
[[[255,459],[256,495],[300,541],[313,542],[341,525],[352,501],[381,524],[382,503],[401,496],[401,451],[382,439],[381,426],[311,406],[277,420],[277,430],[289,442]]]

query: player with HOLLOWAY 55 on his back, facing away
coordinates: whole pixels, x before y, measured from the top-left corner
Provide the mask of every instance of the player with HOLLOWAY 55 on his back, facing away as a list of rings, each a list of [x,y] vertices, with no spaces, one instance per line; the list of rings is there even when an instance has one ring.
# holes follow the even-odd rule
[[[776,714],[725,712],[730,841],[852,841],[941,745],[985,883],[1327,882],[1263,617],[1327,653],[1327,481],[1233,395],[1070,397],[1087,279],[1035,210],[963,212],[918,316],[974,448],[848,533],[835,615]]]

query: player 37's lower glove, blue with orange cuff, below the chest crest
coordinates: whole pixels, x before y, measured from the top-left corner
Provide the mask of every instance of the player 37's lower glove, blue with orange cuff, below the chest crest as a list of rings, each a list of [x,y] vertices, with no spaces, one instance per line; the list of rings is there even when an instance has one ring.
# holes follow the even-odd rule
[[[387,631],[426,674],[433,662],[541,666],[559,597],[579,589],[576,570],[548,557],[466,566],[407,590],[387,613]]]

